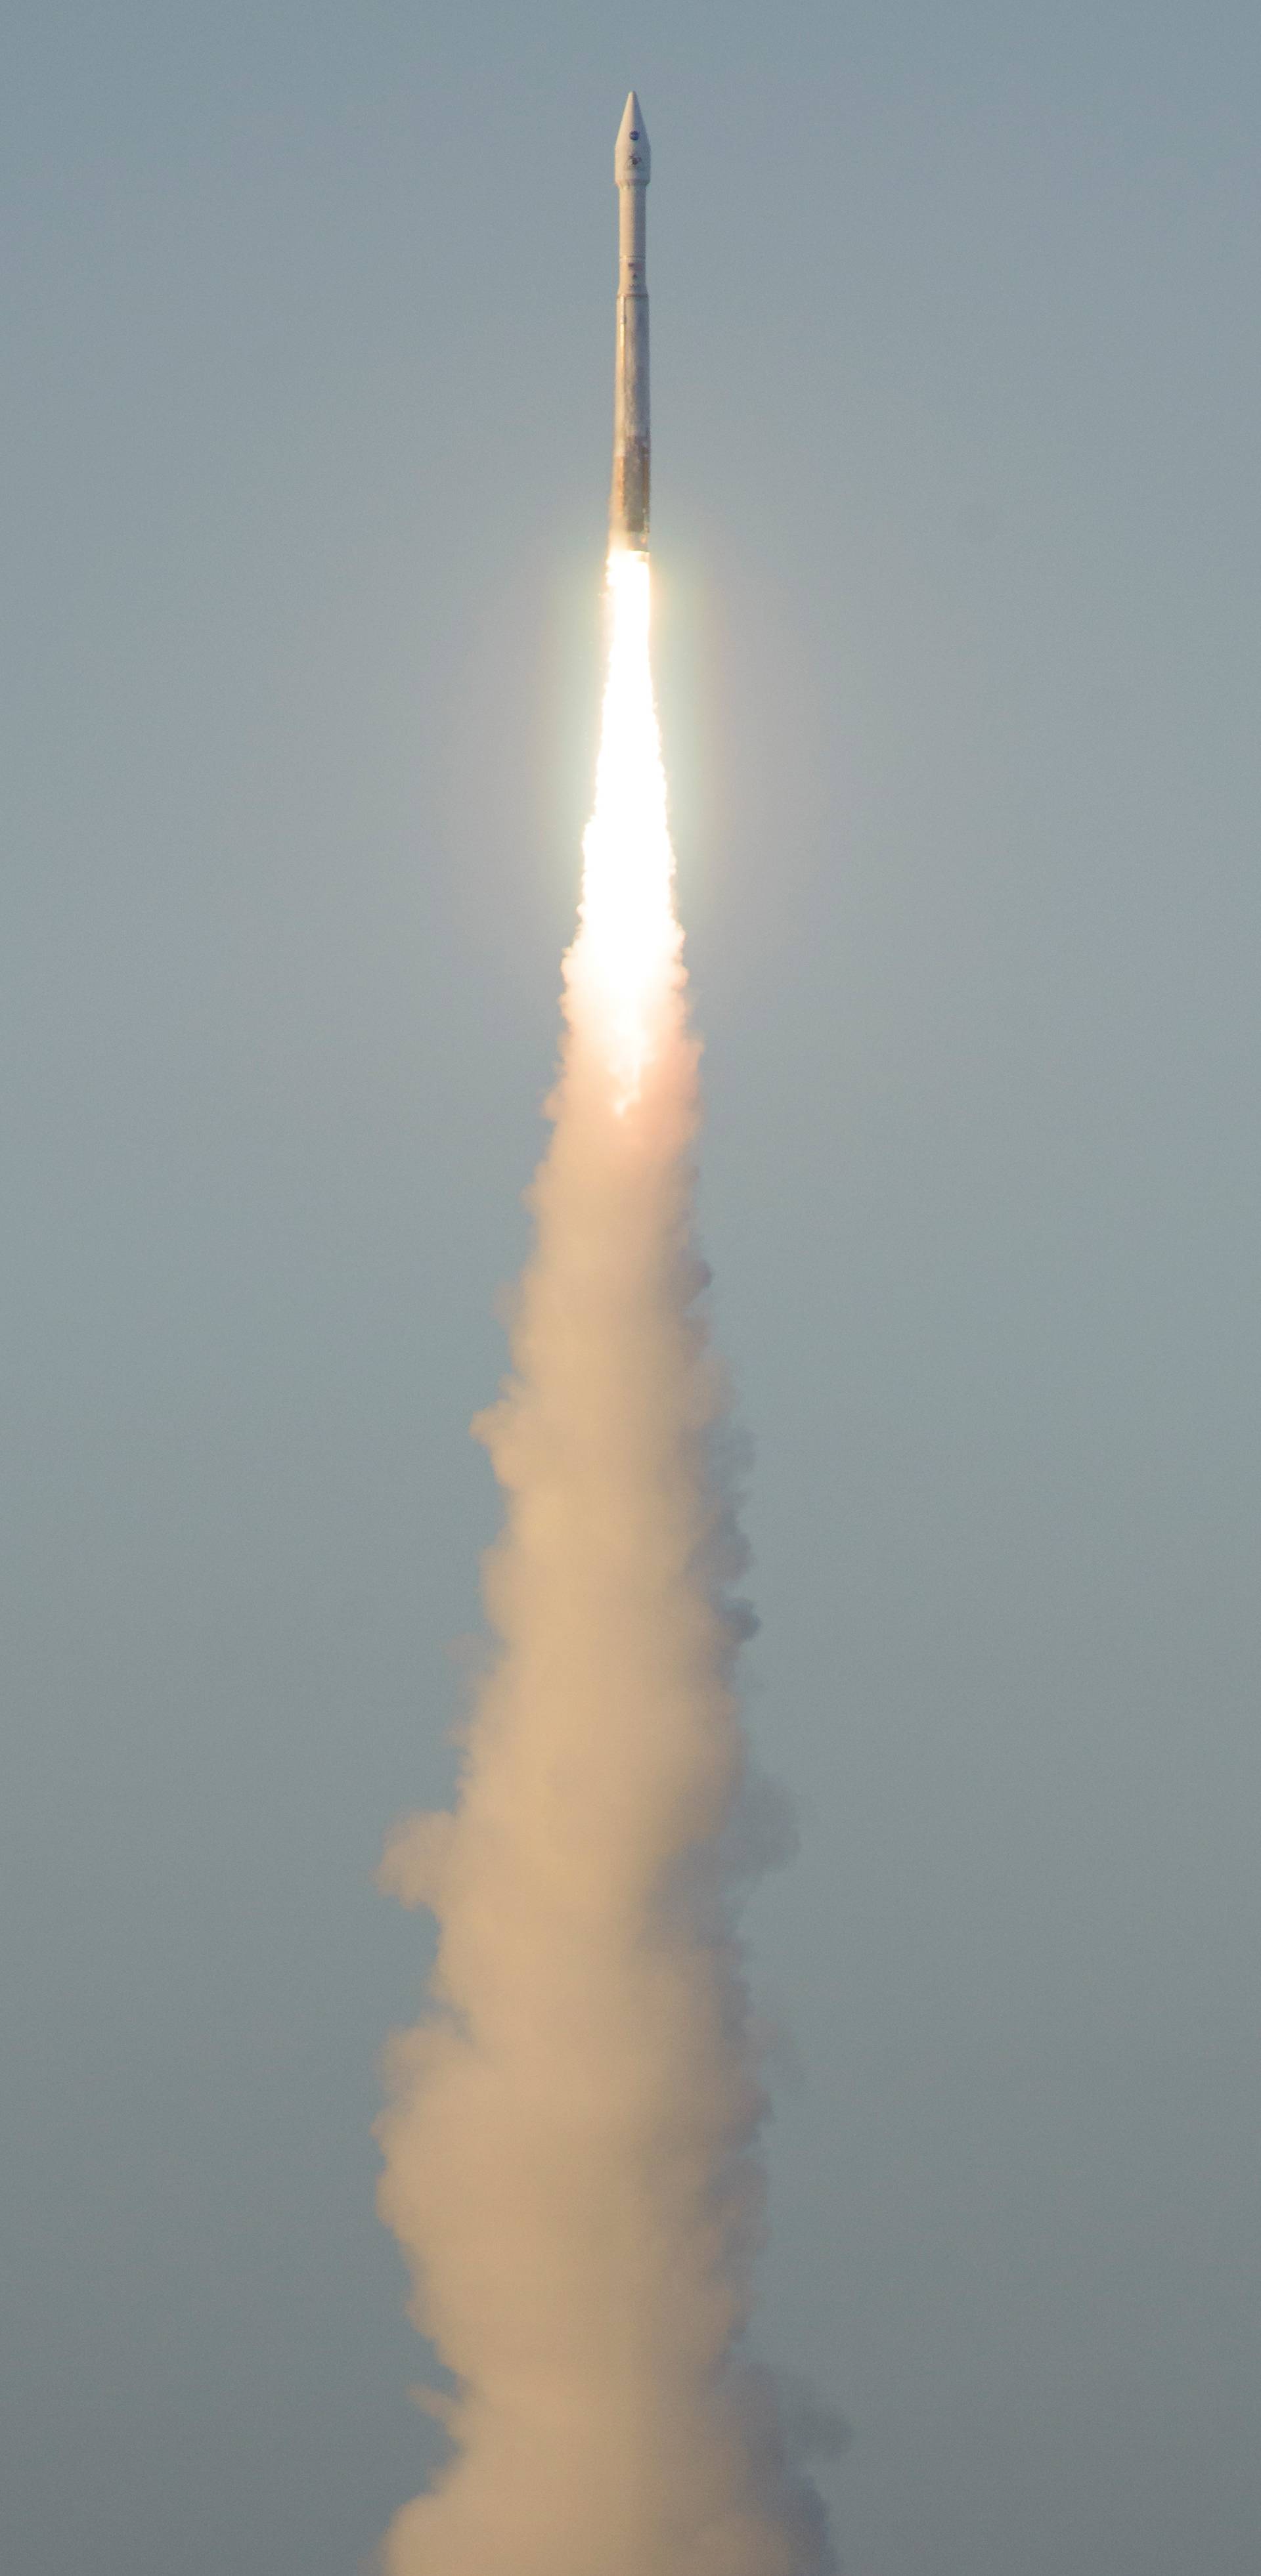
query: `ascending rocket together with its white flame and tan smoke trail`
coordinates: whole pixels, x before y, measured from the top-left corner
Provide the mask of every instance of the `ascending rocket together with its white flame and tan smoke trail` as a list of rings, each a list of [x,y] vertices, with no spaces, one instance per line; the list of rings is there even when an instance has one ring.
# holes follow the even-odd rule
[[[640,137],[632,93],[619,180]],[[642,185],[634,201],[642,281]],[[436,1914],[438,1955],[428,2017],[389,2048],[379,2205],[454,2383],[423,2401],[451,2458],[387,2532],[384,2576],[830,2566],[776,2388],[740,2352],[766,2107],[732,1927],[743,1551],[694,1249],[647,307],[624,325],[619,296],[619,350],[632,340],[552,1144],[513,1373],[474,1425],[505,1492],[485,1569],[498,1659],[456,1811],[405,1821],[382,1865]]]

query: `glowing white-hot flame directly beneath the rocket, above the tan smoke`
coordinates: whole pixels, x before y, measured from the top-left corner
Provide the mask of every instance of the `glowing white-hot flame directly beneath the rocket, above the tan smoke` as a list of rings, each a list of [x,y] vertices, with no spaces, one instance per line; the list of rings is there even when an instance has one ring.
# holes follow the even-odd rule
[[[609,677],[596,809],[583,835],[578,940],[565,961],[575,1018],[601,1043],[627,1110],[678,984],[681,930],[652,698],[647,554],[609,554]]]

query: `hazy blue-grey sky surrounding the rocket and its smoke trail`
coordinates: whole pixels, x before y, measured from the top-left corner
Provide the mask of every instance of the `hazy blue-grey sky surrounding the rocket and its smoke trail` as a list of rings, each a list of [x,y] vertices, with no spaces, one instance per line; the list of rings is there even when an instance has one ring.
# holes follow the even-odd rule
[[[621,100],[848,2576],[1256,2576],[1253,5],[10,0],[0,2563],[353,2576]],[[451,1651],[454,1649],[454,1651]]]

